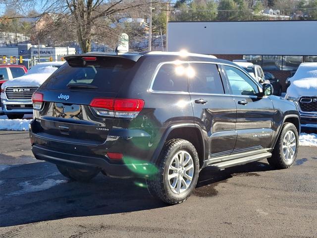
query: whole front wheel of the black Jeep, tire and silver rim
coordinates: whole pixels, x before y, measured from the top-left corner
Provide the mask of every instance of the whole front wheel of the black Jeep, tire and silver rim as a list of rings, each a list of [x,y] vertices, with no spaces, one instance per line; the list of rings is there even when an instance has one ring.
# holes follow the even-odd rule
[[[267,161],[275,169],[286,169],[293,165],[298,152],[298,132],[294,124],[286,122],[278,137],[272,157]]]

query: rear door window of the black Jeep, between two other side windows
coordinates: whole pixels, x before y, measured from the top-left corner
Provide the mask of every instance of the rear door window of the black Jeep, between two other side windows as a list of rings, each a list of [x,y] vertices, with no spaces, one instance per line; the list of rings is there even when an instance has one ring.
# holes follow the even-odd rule
[[[218,68],[211,63],[191,63],[189,91],[194,93],[224,93]]]

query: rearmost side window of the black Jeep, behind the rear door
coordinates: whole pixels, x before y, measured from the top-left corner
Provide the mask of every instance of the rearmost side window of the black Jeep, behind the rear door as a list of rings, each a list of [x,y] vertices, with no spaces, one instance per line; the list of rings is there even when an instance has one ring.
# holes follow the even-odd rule
[[[152,89],[155,91],[187,92],[187,63],[165,63],[159,68]]]

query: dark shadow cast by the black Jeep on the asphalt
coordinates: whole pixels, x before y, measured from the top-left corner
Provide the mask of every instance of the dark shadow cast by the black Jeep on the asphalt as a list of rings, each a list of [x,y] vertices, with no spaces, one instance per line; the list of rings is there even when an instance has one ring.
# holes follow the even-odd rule
[[[219,182],[267,170],[269,165],[262,162],[220,172],[204,169],[194,196],[216,195],[214,186]],[[143,179],[112,179],[100,174],[91,182],[80,183],[65,179],[47,162],[12,166],[0,173],[0,183],[1,227],[167,206],[151,197]]]

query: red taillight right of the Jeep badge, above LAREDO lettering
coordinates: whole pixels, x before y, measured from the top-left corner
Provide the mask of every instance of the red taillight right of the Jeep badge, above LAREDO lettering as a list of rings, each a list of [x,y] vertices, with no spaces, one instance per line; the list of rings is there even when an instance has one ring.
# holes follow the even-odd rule
[[[142,99],[94,98],[90,106],[100,116],[135,118],[144,107]]]

